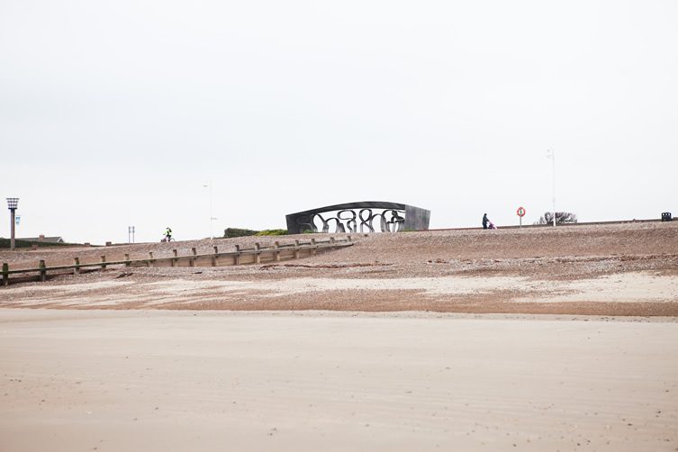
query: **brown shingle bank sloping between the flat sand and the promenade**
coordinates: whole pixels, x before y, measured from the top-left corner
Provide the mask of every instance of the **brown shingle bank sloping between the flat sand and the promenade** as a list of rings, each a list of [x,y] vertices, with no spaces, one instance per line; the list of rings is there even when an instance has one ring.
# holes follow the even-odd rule
[[[346,235],[331,235],[344,238]],[[328,234],[315,234],[327,240]],[[106,307],[113,309],[228,309],[228,310],[307,310],[340,311],[435,311],[435,312],[520,312],[592,315],[678,315],[678,294],[673,291],[678,278],[678,221],[581,225],[562,228],[524,228],[498,231],[425,231],[397,234],[352,234],[354,246],[321,252],[312,258],[275,264],[239,267],[133,267],[91,271],[79,276],[54,276],[46,283],[11,285],[0,291],[0,306],[35,305],[53,308]],[[284,237],[244,237],[238,239],[195,240],[175,243],[141,243],[105,248],[39,249],[0,252],[0,261],[11,267],[35,267],[44,259],[47,265],[96,262],[102,255],[109,261],[171,256],[172,249],[187,255],[230,251],[236,244],[249,248],[308,241],[308,235]],[[634,275],[624,282],[611,276]],[[358,280],[371,286],[341,288],[322,285],[307,291],[285,293],[285,282],[299,278],[312,280]],[[402,289],[401,280],[421,278],[420,285]],[[428,279],[427,279],[428,278]],[[432,294],[430,282],[443,278],[458,285],[455,278],[474,278],[477,290]],[[447,278],[447,279],[445,279]],[[481,287],[488,278],[512,278],[491,289]],[[657,279],[658,278],[658,279]],[[388,281],[392,280],[393,287]],[[564,294],[581,293],[578,281],[592,294],[566,300]],[[171,281],[203,282],[199,289],[168,284],[158,295],[150,284]],[[250,282],[246,289],[224,289],[210,282]],[[262,289],[263,283],[278,281],[281,289]],[[427,281],[429,283],[427,283]],[[455,283],[457,281],[457,283]],[[658,281],[646,289],[644,281]],[[113,282],[113,285],[101,283]],[[127,284],[121,285],[125,282]],[[261,283],[259,286],[256,283]],[[396,282],[398,284],[396,284]],[[535,284],[532,284],[533,282]],[[551,282],[552,284],[542,284]],[[88,285],[86,290],[64,290],[68,285]],[[619,292],[615,287],[622,287]],[[527,287],[527,288],[526,288]],[[17,290],[21,289],[21,290]],[[48,290],[46,290],[48,289]],[[636,287],[637,289],[637,287]],[[646,292],[644,292],[644,290]],[[651,293],[651,291],[655,291]],[[628,299],[634,294],[637,300]],[[626,298],[624,298],[626,296]],[[559,297],[559,298],[558,298]],[[158,303],[158,298],[160,299]],[[51,303],[46,303],[51,299]],[[165,300],[165,302],[162,302]],[[527,301],[526,301],[527,300]],[[40,302],[40,303],[38,303]]]

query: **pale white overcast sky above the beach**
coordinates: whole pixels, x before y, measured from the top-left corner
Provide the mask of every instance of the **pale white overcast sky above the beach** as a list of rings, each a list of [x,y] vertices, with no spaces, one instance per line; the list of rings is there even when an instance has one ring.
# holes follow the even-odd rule
[[[378,200],[431,228],[678,214],[678,2],[0,0],[20,237]],[[0,236],[9,236],[2,199]]]

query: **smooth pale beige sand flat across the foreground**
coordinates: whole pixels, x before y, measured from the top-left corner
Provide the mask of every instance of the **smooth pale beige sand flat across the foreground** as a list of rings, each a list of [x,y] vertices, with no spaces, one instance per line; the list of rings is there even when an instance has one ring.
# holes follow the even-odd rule
[[[3,450],[676,450],[675,318],[0,310]]]

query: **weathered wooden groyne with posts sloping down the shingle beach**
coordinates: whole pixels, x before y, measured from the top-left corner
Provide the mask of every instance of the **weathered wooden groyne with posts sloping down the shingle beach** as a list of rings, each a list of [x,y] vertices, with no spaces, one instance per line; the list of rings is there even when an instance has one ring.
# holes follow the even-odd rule
[[[122,260],[109,261],[105,256],[102,256],[98,262],[80,262],[79,258],[73,259],[73,264],[64,266],[47,267],[44,260],[41,260],[38,267],[10,269],[9,264],[3,264],[2,276],[3,285],[9,285],[10,275],[24,275],[22,280],[26,279],[26,274],[38,281],[45,281],[48,272],[59,272],[60,275],[65,272],[73,272],[74,275],[80,273],[80,269],[94,268],[105,269],[113,266],[123,267],[227,267],[240,266],[246,264],[260,264],[263,262],[277,262],[280,260],[305,258],[308,256],[315,256],[319,250],[323,249],[339,249],[353,245],[351,236],[346,239],[330,240],[315,240],[308,242],[294,240],[294,243],[281,245],[279,242],[274,242],[271,247],[262,247],[258,243],[254,244],[254,248],[240,248],[240,245],[235,246],[235,251],[220,252],[218,247],[213,247],[213,252],[208,254],[198,254],[197,250],[192,248],[191,254],[187,256],[178,256],[176,249],[172,250],[172,256],[169,257],[154,257],[152,252],[149,252],[148,258],[130,258],[129,254],[124,255]],[[14,279],[14,278],[12,278]],[[18,279],[18,278],[17,278]]]

